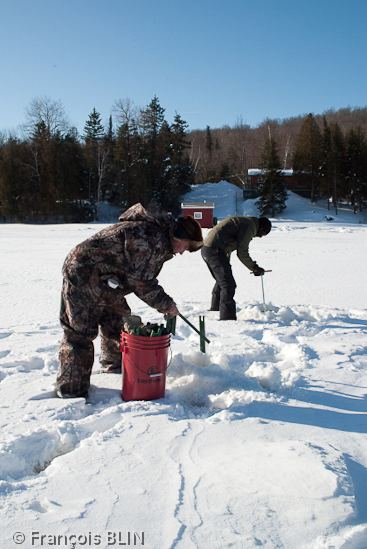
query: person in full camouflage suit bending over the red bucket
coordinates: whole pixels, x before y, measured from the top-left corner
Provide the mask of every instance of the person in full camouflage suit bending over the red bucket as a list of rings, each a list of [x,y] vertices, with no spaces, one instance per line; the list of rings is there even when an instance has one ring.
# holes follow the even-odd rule
[[[131,314],[126,295],[134,293],[160,313],[179,313],[157,276],[175,253],[196,251],[202,244],[200,225],[192,217],[155,217],[135,204],[119,223],[71,250],[62,270],[59,397],[87,395],[99,331],[102,370],[121,372],[122,317]]]

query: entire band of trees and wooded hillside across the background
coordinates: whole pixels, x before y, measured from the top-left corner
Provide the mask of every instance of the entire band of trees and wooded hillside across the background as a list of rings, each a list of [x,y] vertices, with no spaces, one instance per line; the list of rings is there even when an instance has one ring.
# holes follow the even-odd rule
[[[194,130],[176,113],[168,124],[154,97],[146,108],[116,101],[108,127],[93,109],[82,135],[68,125],[62,104],[35,99],[22,137],[0,133],[0,215],[18,221],[98,219],[101,201],[122,210],[141,202],[156,211],[180,211],[192,184],[227,180],[247,185],[261,168],[259,209],[277,213],[286,192],[281,170],[293,168],[335,208],[367,200],[367,109],[329,110],[250,128]],[[272,199],[269,199],[269,196]]]

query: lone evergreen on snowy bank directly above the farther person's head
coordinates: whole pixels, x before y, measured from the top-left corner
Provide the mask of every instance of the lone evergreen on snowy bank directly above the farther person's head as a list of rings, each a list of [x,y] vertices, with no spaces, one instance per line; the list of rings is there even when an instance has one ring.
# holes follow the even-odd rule
[[[259,199],[256,202],[261,215],[282,213],[286,208],[287,190],[276,143],[269,137],[263,148],[261,157],[262,176],[258,186]]]

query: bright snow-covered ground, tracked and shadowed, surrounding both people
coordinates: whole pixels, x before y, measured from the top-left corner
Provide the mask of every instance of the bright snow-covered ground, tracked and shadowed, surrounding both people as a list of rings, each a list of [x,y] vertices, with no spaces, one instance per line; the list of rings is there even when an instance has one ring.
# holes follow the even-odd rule
[[[203,190],[219,218],[235,213],[225,183],[186,200]],[[253,201],[238,213],[256,215]],[[0,225],[1,549],[367,548],[366,216],[293,195],[272,221],[250,247],[272,270],[264,300],[233,257],[237,322],[207,312],[199,253],[164,266],[211,343],[201,353],[178,319],[166,397],[151,402],[122,401],[99,339],[87,401],[53,393],[62,263],[106,225]]]

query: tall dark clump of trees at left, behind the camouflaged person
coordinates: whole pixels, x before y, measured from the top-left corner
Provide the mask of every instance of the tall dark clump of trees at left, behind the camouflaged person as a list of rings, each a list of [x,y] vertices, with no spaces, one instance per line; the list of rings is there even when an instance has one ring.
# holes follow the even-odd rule
[[[122,210],[136,202],[178,214],[194,172],[187,124],[164,118],[157,97],[145,109],[114,105],[108,127],[93,109],[80,136],[68,126],[62,104],[35,99],[24,137],[0,139],[0,215],[11,221],[98,220],[100,202]]]

